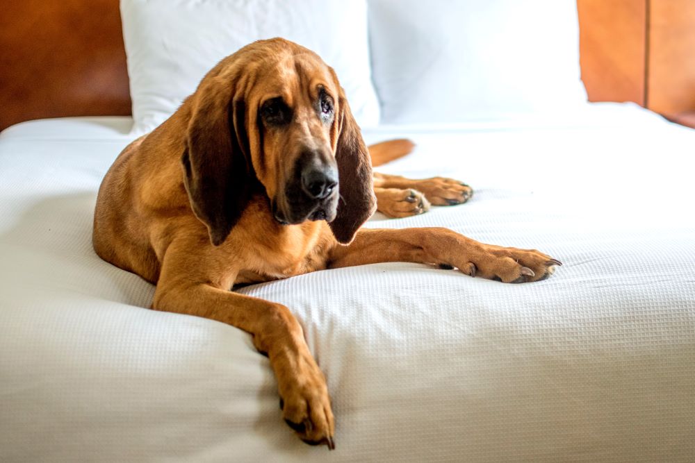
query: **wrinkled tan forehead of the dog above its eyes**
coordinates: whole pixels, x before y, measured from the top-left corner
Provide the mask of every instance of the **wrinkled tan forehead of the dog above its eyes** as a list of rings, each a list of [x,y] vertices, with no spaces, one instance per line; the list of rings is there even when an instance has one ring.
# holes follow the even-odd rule
[[[319,87],[335,99],[338,98],[336,81],[327,65],[309,53],[284,56],[269,62],[254,85],[261,100],[281,96],[289,106],[312,101]]]

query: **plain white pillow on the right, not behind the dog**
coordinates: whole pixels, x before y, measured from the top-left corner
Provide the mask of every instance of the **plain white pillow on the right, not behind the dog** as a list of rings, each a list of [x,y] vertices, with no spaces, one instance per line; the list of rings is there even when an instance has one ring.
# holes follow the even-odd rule
[[[369,0],[382,123],[583,106],[576,0]]]

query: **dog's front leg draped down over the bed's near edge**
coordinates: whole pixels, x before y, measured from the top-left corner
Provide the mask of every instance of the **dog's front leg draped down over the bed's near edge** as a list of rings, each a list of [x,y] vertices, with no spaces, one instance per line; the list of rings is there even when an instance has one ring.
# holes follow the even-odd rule
[[[288,308],[197,280],[190,266],[167,267],[167,260],[152,308],[222,321],[249,332],[275,371],[285,421],[307,444],[333,449],[335,425],[326,379],[306,346],[302,326]]]

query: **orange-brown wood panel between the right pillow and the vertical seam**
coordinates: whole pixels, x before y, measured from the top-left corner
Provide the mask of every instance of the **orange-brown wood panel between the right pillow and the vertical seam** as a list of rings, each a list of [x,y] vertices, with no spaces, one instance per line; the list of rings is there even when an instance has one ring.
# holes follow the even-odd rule
[[[578,0],[577,6],[589,101],[644,105],[645,1]]]

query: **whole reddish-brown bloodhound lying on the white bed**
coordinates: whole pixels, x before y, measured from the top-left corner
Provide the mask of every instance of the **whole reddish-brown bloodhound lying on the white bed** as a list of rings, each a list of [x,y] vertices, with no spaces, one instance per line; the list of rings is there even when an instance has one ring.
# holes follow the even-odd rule
[[[411,147],[386,142],[373,154]],[[360,228],[377,208],[403,217],[469,196],[455,180],[373,174],[333,69],[297,44],[263,40],[222,60],[172,117],[126,146],[99,189],[93,243],[156,284],[153,309],[249,332],[270,359],[288,425],[332,449],[331,400],[302,326],[284,305],[232,287],[396,261],[522,283],[560,264],[447,228]]]

